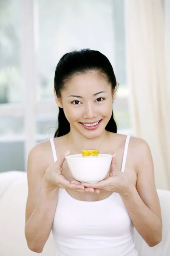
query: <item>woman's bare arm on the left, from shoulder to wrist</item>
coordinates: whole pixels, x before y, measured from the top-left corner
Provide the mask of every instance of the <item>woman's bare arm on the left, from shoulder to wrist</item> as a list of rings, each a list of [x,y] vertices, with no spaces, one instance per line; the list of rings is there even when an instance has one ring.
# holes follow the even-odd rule
[[[41,253],[47,241],[57,205],[58,188],[50,189],[44,179],[44,143],[31,149],[28,156],[28,198],[25,236],[30,250]]]

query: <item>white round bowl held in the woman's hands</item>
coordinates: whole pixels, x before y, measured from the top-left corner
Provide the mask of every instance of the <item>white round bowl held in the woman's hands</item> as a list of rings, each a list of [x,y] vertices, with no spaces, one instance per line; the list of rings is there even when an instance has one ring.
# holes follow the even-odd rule
[[[68,167],[74,179],[80,182],[97,183],[107,176],[113,155],[83,157],[82,154],[66,156]]]

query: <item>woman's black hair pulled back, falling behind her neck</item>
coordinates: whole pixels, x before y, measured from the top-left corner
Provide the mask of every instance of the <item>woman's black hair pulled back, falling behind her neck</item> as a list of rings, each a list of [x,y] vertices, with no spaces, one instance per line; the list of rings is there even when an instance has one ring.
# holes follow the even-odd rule
[[[91,49],[81,49],[79,51],[68,52],[62,56],[57,64],[54,77],[54,89],[57,97],[61,98],[61,92],[66,81],[74,75],[87,73],[95,70],[103,74],[111,84],[112,91],[116,88],[116,77],[113,67],[108,58],[99,51]],[[114,120],[113,111],[111,119],[105,127],[106,131],[117,132],[117,125]],[[59,108],[58,128],[55,137],[61,137],[70,131],[70,123],[65,117],[63,108]]]

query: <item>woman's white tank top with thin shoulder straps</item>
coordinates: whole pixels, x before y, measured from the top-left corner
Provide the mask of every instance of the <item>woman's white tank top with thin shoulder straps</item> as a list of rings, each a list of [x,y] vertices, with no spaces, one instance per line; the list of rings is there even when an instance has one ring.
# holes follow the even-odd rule
[[[125,170],[127,136],[122,162]],[[54,161],[57,161],[51,139]],[[134,226],[119,193],[101,201],[79,201],[59,189],[52,233],[57,256],[137,256]]]

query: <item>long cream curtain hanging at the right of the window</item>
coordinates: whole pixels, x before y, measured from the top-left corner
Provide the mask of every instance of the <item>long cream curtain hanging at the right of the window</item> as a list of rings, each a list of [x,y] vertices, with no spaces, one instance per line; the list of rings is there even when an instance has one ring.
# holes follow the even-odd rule
[[[147,141],[158,189],[170,189],[170,95],[162,0],[125,0],[127,76],[134,135]]]

